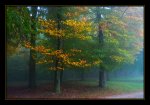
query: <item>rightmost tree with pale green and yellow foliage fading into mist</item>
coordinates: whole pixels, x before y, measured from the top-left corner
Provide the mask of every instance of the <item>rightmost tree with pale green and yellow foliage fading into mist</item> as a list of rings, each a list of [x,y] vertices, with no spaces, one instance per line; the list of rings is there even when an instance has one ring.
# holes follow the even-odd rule
[[[99,21],[99,57],[102,60],[100,68],[103,71],[109,71],[120,67],[124,63],[134,63],[136,55],[142,48],[141,45],[138,44],[138,46],[135,46],[135,44],[142,43],[142,38],[137,38],[136,34],[130,34],[136,31],[131,30],[131,26],[133,25],[135,27],[135,24],[129,24],[131,21],[128,20],[127,17],[124,17],[128,11],[127,9],[120,15],[118,11],[121,7],[117,10],[115,9],[115,11],[113,9],[113,11],[108,12],[109,14],[104,14],[104,8],[105,7],[97,7],[95,14]],[[101,16],[103,16],[103,18]],[[134,22],[139,26],[139,22]],[[142,24],[142,22],[140,22],[140,24]],[[142,30],[142,27],[138,27],[138,29]],[[105,87],[106,74],[104,72],[100,72],[100,74],[99,86]]]

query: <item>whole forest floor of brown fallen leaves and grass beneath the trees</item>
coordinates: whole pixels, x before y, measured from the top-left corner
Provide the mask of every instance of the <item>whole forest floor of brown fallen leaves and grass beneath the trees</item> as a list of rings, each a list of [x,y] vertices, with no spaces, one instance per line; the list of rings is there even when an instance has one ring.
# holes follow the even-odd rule
[[[43,83],[34,90],[25,86],[9,86],[6,99],[105,99],[109,96],[111,98],[115,95],[142,91],[142,81],[108,81],[104,89],[98,87],[98,81],[67,81],[61,85],[60,94],[53,92],[52,83]]]

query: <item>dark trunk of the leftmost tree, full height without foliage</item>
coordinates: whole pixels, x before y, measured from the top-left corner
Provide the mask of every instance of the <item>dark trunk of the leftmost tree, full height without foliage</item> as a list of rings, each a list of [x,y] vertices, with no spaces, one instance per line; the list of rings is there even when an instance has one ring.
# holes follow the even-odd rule
[[[32,7],[32,30],[36,31],[36,14],[37,14],[37,7]],[[33,47],[35,47],[35,40],[36,35],[35,33],[31,33],[30,43]],[[36,52],[30,49],[30,61],[29,61],[29,88],[33,89],[36,87],[36,69],[35,69],[35,60],[33,56],[36,56]]]

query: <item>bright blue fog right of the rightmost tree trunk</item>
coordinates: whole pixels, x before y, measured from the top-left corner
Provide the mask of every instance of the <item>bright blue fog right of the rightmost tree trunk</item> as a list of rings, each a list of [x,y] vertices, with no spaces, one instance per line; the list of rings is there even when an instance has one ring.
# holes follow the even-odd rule
[[[142,50],[134,64],[125,64],[120,70],[112,71],[109,73],[109,77],[112,79],[144,79],[144,51]]]

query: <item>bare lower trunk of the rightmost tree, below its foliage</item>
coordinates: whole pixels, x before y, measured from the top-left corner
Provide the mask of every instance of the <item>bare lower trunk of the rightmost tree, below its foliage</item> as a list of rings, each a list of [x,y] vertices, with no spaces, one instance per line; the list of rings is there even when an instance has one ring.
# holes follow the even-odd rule
[[[104,70],[99,70],[99,87],[106,87],[106,72]]]

